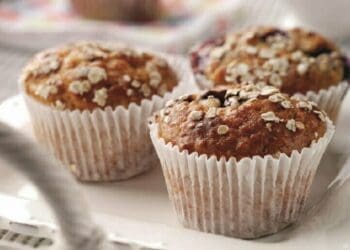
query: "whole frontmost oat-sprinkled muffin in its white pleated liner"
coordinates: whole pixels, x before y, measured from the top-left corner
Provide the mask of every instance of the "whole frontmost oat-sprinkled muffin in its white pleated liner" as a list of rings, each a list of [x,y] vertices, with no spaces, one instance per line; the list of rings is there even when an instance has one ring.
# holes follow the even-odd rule
[[[170,101],[150,129],[180,222],[246,239],[297,220],[334,133],[316,104],[249,84]]]

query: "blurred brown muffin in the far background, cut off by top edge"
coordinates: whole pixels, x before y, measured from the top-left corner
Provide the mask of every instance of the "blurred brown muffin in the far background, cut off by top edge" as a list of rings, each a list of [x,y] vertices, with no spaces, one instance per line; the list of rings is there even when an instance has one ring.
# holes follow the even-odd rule
[[[161,16],[160,0],[71,0],[81,16],[98,20],[147,22]]]

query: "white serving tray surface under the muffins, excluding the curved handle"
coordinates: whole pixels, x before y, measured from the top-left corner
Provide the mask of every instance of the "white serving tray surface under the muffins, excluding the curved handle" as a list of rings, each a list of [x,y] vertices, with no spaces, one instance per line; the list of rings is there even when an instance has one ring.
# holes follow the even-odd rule
[[[20,96],[0,105],[0,121],[31,136],[29,118]],[[147,249],[350,249],[350,183],[327,191],[350,152],[349,121],[350,94],[344,102],[335,140],[322,160],[307,207],[321,203],[311,212],[310,209],[305,212],[300,226],[257,240],[244,241],[182,228],[168,200],[159,167],[128,181],[79,185],[97,221],[113,234],[111,237],[119,242],[148,246]],[[46,245],[50,245],[50,239],[57,239],[53,216],[35,187],[11,168],[2,167],[0,230],[9,222],[17,222],[13,230],[19,234],[45,238],[46,241],[42,241]],[[0,237],[0,249],[4,243],[8,244]]]

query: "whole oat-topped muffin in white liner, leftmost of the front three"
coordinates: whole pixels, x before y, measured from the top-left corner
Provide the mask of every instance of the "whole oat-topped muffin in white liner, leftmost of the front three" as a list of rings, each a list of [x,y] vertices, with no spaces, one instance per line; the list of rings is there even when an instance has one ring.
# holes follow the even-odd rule
[[[145,172],[156,159],[147,118],[184,93],[184,65],[118,43],[77,42],[43,51],[20,79],[34,134],[80,180]]]

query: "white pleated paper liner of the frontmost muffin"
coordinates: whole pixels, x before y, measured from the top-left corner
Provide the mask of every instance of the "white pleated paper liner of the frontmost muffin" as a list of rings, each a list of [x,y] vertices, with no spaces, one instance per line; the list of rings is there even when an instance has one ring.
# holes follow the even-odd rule
[[[334,133],[327,119],[325,135],[301,152],[236,161],[189,154],[150,134],[160,159],[170,200],[187,228],[257,238],[295,222],[303,210],[317,167]]]

